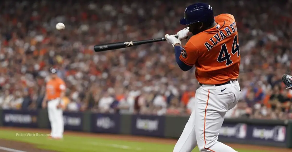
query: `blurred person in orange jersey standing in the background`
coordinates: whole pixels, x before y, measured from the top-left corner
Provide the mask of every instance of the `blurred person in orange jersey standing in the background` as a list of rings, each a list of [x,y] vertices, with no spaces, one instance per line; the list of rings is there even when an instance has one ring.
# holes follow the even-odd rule
[[[51,68],[51,79],[46,84],[46,95],[43,108],[48,105],[48,116],[51,123],[51,138],[62,139],[64,132],[62,99],[65,96],[65,82],[57,76],[58,69]]]

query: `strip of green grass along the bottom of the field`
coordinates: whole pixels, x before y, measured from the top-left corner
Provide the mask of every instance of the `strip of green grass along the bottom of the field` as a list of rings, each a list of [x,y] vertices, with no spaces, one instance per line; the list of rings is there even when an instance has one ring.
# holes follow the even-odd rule
[[[23,133],[25,136],[16,136]],[[47,137],[28,136],[28,131],[0,130],[0,139],[26,142],[36,145],[37,148],[60,152],[172,152],[174,145],[147,142],[133,142],[125,140],[109,140],[95,137],[80,137],[65,135],[64,140],[49,140]],[[36,133],[36,132],[34,132]],[[15,146],[16,147],[16,146]],[[18,149],[21,150],[21,149]],[[239,152],[260,152],[237,149]],[[199,152],[197,147],[192,152]]]

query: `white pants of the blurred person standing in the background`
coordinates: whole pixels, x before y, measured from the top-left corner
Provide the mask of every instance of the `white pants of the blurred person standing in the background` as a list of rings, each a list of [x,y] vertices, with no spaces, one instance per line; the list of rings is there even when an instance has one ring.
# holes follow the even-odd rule
[[[51,136],[53,138],[63,138],[64,120],[62,108],[57,109],[60,98],[48,101],[48,116],[51,122]]]

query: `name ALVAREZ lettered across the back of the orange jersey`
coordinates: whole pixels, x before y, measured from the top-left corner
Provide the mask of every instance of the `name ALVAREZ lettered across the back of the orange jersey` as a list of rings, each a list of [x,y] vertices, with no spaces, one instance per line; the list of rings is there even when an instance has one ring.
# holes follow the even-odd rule
[[[223,31],[225,31],[226,34]],[[205,47],[208,49],[208,51],[210,51],[219,42],[224,40],[226,37],[232,35],[236,31],[237,31],[236,24],[235,22],[233,22],[232,24],[229,25],[229,27],[225,27],[224,30],[219,31],[213,37],[211,37],[209,42],[205,42]]]

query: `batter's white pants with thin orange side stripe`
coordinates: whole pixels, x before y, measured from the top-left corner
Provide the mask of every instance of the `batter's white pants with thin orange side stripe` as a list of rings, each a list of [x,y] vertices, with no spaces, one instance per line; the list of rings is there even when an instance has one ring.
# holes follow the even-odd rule
[[[173,152],[191,152],[196,146],[201,152],[236,152],[217,140],[225,113],[234,108],[240,95],[237,81],[217,87],[203,85],[197,89],[194,111]]]

